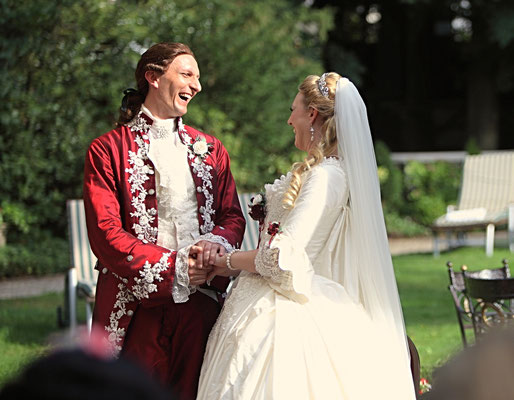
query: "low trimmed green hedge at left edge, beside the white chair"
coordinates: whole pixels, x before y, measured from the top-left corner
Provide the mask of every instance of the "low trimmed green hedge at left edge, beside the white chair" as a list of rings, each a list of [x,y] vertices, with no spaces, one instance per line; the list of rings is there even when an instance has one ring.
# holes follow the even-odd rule
[[[66,271],[69,247],[65,239],[44,238],[0,247],[0,279],[51,275]]]

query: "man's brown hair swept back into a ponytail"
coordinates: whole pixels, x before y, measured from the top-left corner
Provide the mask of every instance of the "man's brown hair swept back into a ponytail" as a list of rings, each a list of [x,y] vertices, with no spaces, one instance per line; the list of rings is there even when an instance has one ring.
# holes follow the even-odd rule
[[[191,49],[183,43],[162,42],[154,44],[143,53],[136,67],[137,90],[126,90],[120,107],[120,115],[117,125],[124,125],[138,114],[141,104],[148,94],[148,81],[145,78],[146,71],[155,71],[162,75],[168,69],[173,60],[182,54],[195,56]]]

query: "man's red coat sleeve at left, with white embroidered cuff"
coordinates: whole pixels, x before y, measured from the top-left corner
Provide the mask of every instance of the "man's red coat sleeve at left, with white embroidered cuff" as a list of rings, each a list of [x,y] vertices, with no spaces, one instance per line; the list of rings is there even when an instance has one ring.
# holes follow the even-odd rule
[[[100,268],[116,274],[143,305],[172,301],[176,252],[143,243],[124,227],[129,189],[124,177],[124,144],[96,139],[84,173],[84,207],[91,248]]]

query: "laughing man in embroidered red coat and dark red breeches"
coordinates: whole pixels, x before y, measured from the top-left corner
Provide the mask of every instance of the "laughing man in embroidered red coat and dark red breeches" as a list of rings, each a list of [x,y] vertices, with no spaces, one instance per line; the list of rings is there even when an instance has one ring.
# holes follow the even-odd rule
[[[182,124],[201,90],[192,51],[156,44],[135,75],[118,127],[86,156],[84,206],[100,271],[93,322],[115,352],[194,399],[220,310],[212,290],[196,288],[217,255],[239,247],[245,222],[225,148]],[[193,245],[203,249],[196,259]],[[224,291],[221,279],[210,288]]]

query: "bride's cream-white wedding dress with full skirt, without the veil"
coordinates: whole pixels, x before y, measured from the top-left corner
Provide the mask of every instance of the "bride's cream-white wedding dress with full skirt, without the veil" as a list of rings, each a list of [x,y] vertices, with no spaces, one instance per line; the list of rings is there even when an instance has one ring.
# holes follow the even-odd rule
[[[397,350],[405,344],[338,283],[349,211],[342,163],[327,158],[306,174],[292,210],[282,206],[290,174],[266,185],[258,274],[242,272],[225,302],[198,399],[414,399]],[[273,237],[270,222],[280,223]]]

